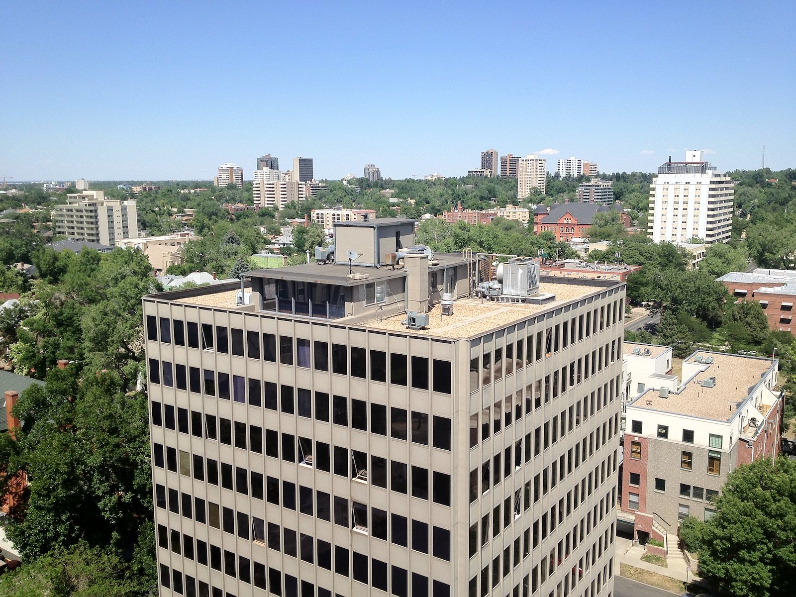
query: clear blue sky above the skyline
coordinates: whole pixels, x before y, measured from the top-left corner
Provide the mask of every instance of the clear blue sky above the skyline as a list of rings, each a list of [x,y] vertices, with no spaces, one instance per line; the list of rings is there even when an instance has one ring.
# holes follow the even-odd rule
[[[5,2],[0,174],[796,167],[796,2]],[[553,154],[552,151],[559,152]]]

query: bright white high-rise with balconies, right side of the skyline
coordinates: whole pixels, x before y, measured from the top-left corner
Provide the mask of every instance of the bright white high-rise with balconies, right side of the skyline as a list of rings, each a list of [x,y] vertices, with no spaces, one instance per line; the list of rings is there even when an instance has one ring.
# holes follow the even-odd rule
[[[732,232],[735,185],[726,174],[704,161],[703,152],[689,151],[685,162],[669,162],[657,169],[650,185],[648,236],[685,243],[726,243]]]

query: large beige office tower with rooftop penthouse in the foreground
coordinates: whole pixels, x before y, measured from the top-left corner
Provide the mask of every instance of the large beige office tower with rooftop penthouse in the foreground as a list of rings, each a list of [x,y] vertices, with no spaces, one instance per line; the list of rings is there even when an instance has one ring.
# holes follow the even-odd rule
[[[482,304],[414,224],[144,298],[160,595],[611,594],[624,283]]]

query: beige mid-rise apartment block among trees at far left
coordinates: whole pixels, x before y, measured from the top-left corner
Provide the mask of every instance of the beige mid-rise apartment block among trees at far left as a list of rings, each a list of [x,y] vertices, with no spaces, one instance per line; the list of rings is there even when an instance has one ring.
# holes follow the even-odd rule
[[[105,199],[103,191],[84,191],[66,196],[67,205],[53,213],[55,233],[69,239],[115,246],[116,239],[139,236],[135,199]]]

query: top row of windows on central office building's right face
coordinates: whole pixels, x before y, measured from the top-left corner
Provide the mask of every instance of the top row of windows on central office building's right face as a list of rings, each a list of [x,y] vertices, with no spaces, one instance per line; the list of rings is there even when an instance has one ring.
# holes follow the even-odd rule
[[[470,392],[500,380],[525,365],[550,357],[591,334],[597,334],[606,326],[621,322],[623,318],[623,299],[619,298],[607,306],[590,310],[546,330],[531,332],[527,338],[508,342],[505,347],[500,346],[483,353],[481,357],[474,357],[470,360]],[[615,360],[617,348],[618,353],[622,353],[621,340],[614,341],[611,347],[611,362]],[[607,354],[606,351],[606,360]]]

